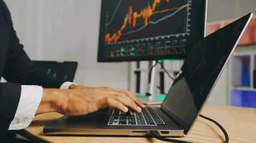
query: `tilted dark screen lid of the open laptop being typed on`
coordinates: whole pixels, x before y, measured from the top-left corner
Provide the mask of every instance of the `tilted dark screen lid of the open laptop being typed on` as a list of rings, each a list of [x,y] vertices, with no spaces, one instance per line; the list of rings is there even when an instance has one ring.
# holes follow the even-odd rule
[[[193,125],[206,98],[237,46],[252,14],[234,21],[193,46],[161,108],[185,128]],[[225,95],[223,95],[225,96]]]

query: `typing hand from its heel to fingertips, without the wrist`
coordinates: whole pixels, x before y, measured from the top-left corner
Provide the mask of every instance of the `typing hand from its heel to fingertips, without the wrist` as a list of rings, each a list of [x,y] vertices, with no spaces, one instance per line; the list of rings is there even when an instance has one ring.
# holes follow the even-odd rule
[[[124,90],[73,85],[68,91],[68,100],[58,109],[62,114],[88,114],[106,107],[113,107],[122,112],[127,112],[128,108],[134,112],[141,112],[141,107],[145,107],[139,99]]]

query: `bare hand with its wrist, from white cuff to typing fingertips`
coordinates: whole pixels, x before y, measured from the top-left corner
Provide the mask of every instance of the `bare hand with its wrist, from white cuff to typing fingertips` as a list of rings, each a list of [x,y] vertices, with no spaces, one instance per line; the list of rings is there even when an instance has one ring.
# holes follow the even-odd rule
[[[43,102],[44,100],[45,102]],[[49,102],[52,100],[53,102]],[[52,104],[47,105],[47,101]],[[68,90],[44,89],[44,96],[40,105],[42,106],[37,109],[37,114],[52,110],[66,115],[82,115],[106,107],[113,107],[122,112],[127,112],[128,108],[134,112],[141,112],[141,107],[145,108],[137,97],[127,91],[115,90],[109,87],[77,85],[70,86]],[[51,109],[45,110],[47,107]]]

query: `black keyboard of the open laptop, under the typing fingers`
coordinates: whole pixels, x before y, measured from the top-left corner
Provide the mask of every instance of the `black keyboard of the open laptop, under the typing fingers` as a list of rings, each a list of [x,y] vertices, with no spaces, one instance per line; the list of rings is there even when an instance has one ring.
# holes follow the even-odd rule
[[[120,112],[118,109],[114,109],[108,125],[161,126],[165,125],[165,122],[163,122],[163,119],[161,119],[151,108],[142,109],[141,113],[132,112],[132,114],[126,114]]]

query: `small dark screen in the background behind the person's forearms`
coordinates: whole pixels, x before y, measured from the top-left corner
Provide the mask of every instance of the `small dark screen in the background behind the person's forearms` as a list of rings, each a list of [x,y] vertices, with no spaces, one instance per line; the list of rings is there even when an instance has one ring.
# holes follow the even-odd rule
[[[73,82],[78,67],[76,61],[33,61],[33,64],[42,79],[57,83]],[[59,84],[55,88],[59,88]]]

